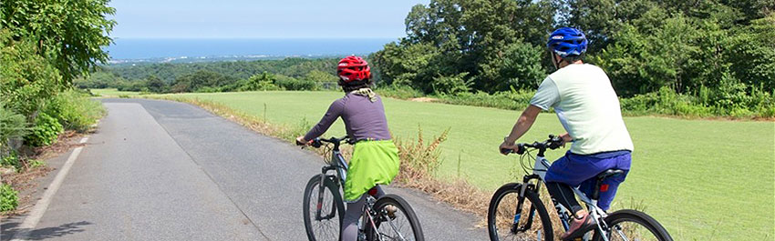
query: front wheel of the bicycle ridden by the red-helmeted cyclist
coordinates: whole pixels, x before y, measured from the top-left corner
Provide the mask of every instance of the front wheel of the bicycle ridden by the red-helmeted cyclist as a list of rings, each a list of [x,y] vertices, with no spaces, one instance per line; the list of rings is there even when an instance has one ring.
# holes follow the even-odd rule
[[[310,241],[339,240],[339,228],[342,226],[342,218],[345,216],[345,204],[339,194],[339,187],[328,177],[323,178],[321,192],[321,176],[313,176],[306,184],[303,202],[306,236]],[[320,207],[319,216],[317,214],[318,206]]]

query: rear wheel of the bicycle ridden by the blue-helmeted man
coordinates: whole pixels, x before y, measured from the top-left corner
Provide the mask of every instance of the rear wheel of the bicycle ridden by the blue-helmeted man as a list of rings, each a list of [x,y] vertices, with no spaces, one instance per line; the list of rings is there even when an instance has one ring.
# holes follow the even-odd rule
[[[611,241],[673,241],[664,226],[645,213],[624,209],[605,217],[610,227],[608,240]],[[593,240],[604,240],[595,232]]]

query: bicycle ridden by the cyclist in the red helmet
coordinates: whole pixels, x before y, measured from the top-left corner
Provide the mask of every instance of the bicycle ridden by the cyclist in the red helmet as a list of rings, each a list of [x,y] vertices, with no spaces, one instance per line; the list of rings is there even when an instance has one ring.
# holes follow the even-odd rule
[[[354,145],[355,141],[347,136],[315,138],[311,144],[315,148],[325,146],[325,153],[331,155],[324,156],[321,174],[310,178],[305,188],[304,219],[309,240],[339,240],[345,216],[342,187],[347,176],[347,163],[339,151],[341,143]],[[358,223],[358,240],[425,240],[418,218],[404,198],[388,194],[377,199],[376,193],[375,188],[368,191]]]

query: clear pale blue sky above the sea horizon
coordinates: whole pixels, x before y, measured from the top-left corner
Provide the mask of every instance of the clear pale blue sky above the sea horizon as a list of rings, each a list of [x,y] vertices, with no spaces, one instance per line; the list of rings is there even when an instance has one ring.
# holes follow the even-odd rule
[[[429,0],[112,0],[117,38],[398,38]]]

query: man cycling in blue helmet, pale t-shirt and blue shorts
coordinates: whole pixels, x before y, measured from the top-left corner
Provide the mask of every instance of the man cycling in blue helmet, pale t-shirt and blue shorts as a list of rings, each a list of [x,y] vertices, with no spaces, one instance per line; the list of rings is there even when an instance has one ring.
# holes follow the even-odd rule
[[[604,181],[606,190],[601,190],[597,206],[608,210],[618,185],[625,181],[630,169],[633,143],[608,76],[600,67],[582,61],[587,45],[584,33],[563,27],[549,36],[546,45],[557,71],[539,85],[531,105],[522,112],[500,148],[516,149],[514,143],[530,129],[541,110],[554,108],[567,131],[561,135],[563,142],[573,142],[565,156],[553,162],[544,180],[553,198],[569,207],[575,217],[564,238],[593,222],[576,201],[571,186],[579,186],[591,196],[595,176],[606,169],[625,170],[625,175]]]

